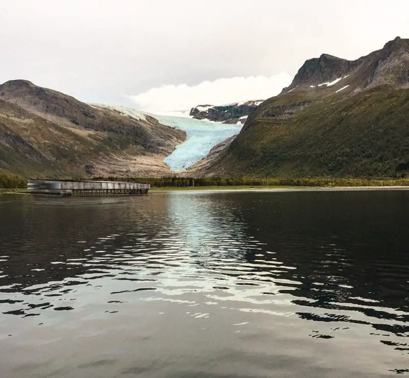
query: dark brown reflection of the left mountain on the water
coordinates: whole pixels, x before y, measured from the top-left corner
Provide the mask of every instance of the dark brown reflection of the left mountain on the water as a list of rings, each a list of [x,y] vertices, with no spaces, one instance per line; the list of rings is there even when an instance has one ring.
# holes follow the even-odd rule
[[[7,264],[0,263],[5,275],[0,286],[16,284],[21,289],[96,272],[98,265],[103,270],[106,263],[89,263],[98,256],[96,250],[102,250],[102,257],[126,244],[137,245],[141,237],[155,239],[167,223],[162,216],[166,196],[150,202],[150,211],[148,202],[144,196],[74,201],[22,196],[18,203],[0,202],[0,212],[8,214],[0,227],[0,255],[8,256]],[[123,235],[132,231],[135,235]],[[160,242],[155,245],[161,247]]]

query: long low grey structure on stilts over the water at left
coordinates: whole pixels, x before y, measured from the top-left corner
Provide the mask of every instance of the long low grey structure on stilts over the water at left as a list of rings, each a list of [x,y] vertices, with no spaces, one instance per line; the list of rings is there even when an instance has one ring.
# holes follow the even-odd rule
[[[32,194],[61,197],[113,197],[147,194],[150,184],[118,181],[29,180]]]

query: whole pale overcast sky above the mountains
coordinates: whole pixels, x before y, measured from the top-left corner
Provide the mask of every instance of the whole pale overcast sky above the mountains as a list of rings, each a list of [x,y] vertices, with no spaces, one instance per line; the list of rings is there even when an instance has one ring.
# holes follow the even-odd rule
[[[0,82],[149,111],[265,98],[409,38],[407,0],[0,0]]]

